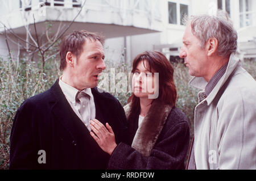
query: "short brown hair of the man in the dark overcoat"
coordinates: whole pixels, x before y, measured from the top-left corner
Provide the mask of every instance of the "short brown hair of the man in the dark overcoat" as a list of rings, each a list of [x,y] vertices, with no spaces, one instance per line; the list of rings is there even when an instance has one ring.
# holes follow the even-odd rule
[[[73,31],[71,34],[64,37],[60,45],[60,70],[64,70],[66,63],[66,55],[68,52],[75,54],[77,58],[81,55],[82,46],[86,41],[100,41],[104,44],[104,37],[85,30]]]

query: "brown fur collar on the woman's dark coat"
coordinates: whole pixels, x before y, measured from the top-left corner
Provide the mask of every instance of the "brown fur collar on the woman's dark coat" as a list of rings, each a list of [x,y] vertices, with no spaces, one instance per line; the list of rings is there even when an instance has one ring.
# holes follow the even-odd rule
[[[124,109],[128,118],[131,114],[131,104],[127,104]],[[171,110],[170,105],[155,100],[139,126],[131,147],[148,157]]]

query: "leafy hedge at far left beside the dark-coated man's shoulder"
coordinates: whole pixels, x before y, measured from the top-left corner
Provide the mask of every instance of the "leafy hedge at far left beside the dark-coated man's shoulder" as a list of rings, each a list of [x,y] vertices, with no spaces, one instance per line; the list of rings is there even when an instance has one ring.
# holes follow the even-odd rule
[[[40,64],[20,60],[0,60],[0,169],[9,168],[10,130],[20,104],[27,98],[46,91],[60,76],[59,61]]]

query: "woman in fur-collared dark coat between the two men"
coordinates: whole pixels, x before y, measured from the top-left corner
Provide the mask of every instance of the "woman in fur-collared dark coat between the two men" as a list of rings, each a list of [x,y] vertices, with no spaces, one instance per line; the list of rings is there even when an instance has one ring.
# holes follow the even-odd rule
[[[90,134],[110,154],[108,169],[184,169],[189,127],[175,107],[174,69],[160,52],[144,52],[133,61],[133,94],[124,107],[129,142],[115,143],[114,132],[96,119]]]

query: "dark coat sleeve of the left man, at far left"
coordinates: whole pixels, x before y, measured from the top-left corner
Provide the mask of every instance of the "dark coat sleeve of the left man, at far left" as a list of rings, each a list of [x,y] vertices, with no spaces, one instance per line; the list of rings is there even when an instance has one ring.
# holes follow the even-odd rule
[[[36,169],[30,103],[16,111],[10,135],[10,169]]]

